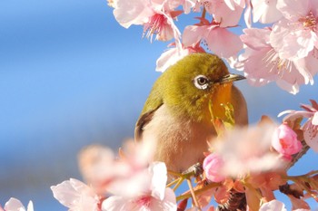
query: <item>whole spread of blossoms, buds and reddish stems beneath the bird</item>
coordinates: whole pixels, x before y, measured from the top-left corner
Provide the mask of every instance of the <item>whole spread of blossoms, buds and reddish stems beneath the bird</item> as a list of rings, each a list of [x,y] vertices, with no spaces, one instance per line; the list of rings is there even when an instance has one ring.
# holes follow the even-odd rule
[[[303,105],[303,108],[312,107]],[[309,121],[315,122],[315,112],[306,116]],[[192,211],[204,207],[214,210],[213,199],[224,204],[231,197],[231,191],[236,191],[246,196],[249,210],[283,211],[286,208],[275,199],[273,191],[291,180],[296,182],[290,187],[295,187],[285,194],[290,197],[293,210],[310,210],[304,199],[318,200],[317,172],[299,177],[286,174],[286,166],[303,149],[299,132],[294,131],[291,122],[294,121],[277,125],[263,118],[256,126],[228,130],[212,139],[211,153],[205,153],[204,171],[197,177],[196,186],[189,187],[191,194],[185,191],[175,196],[184,175],[177,177],[178,174],[168,171],[163,162],[153,160],[154,141],[128,141],[117,156],[102,146],[83,149],[79,166],[87,185],[71,178],[51,189],[54,197],[69,210]],[[313,148],[316,145],[313,144]],[[193,207],[186,206],[190,197],[196,202]]]

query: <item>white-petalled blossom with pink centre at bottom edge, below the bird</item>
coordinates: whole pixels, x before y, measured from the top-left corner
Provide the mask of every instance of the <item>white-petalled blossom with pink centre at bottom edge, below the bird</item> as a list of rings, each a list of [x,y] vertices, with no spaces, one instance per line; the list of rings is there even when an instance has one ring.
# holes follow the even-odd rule
[[[165,187],[167,181],[167,170],[163,162],[154,162],[145,169],[143,181],[146,186],[144,190],[134,192],[134,196],[118,195],[108,197],[104,200],[102,209],[106,211],[117,210],[164,210],[175,211],[176,201],[174,191]],[[123,188],[124,186],[121,186]],[[129,188],[129,187],[125,187]],[[123,190],[124,193],[124,190]]]

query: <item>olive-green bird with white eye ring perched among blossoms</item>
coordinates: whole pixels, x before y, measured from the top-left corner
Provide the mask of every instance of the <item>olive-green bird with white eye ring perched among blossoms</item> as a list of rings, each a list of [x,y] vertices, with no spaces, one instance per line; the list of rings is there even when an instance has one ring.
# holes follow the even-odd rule
[[[224,106],[234,108],[235,125],[248,123],[246,101],[233,84],[243,80],[230,73],[212,53],[192,53],[171,65],[154,82],[135,124],[136,141],[155,141],[154,160],[174,172],[202,163],[207,142],[217,134],[212,112],[225,118]]]

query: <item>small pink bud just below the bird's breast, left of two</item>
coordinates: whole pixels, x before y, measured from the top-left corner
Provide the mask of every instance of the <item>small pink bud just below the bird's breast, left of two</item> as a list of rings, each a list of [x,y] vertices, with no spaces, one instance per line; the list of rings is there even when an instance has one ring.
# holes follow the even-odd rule
[[[224,167],[224,160],[217,154],[212,153],[204,158],[204,172],[205,176],[213,182],[221,182],[225,179],[222,174]]]

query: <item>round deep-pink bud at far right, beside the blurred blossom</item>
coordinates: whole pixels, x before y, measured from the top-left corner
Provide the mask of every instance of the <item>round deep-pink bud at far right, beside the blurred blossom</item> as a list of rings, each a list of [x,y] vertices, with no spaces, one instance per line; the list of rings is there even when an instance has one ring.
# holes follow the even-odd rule
[[[297,139],[297,134],[285,123],[273,132],[272,146],[284,158],[291,158],[291,155],[302,149],[302,143]]]

